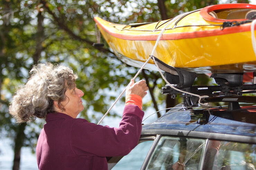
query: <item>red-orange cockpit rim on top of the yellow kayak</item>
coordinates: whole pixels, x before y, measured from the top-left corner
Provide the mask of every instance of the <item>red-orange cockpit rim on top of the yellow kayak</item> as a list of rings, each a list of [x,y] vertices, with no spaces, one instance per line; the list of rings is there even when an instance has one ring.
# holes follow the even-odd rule
[[[211,22],[226,22],[226,21],[234,21],[234,20],[225,20],[225,19],[218,19],[213,18],[209,15],[209,12],[219,10],[219,9],[228,9],[228,8],[244,8],[244,9],[256,9],[256,5],[248,4],[248,3],[229,3],[229,4],[218,4],[205,7],[200,10],[200,15],[203,19]],[[237,19],[236,21],[244,21],[246,19]]]

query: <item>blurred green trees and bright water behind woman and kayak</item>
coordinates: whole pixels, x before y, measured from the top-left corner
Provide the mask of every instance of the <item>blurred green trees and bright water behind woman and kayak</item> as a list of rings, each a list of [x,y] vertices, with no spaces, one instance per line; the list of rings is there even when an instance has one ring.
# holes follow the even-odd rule
[[[157,22],[220,3],[256,4],[256,0],[1,0],[0,169],[38,169],[35,147],[44,120],[18,125],[8,113],[16,87],[27,82],[33,64],[49,61],[72,67],[79,76],[76,84],[84,92],[85,109],[79,117],[93,123],[138,71],[118,60],[102,38],[104,46],[92,46],[96,42],[93,17],[122,24]],[[136,80],[142,78],[149,86],[144,118],[181,102],[161,94],[165,83],[158,72],[143,70]],[[212,84],[204,74],[195,83]],[[122,97],[102,125],[118,126],[124,100]],[[153,114],[144,124],[165,112]]]

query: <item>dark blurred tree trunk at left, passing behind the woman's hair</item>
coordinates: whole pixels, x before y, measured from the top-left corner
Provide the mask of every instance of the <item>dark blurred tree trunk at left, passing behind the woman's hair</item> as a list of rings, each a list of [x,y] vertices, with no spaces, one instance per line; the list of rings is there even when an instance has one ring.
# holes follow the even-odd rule
[[[37,15],[37,37],[36,40],[36,49],[33,55],[34,64],[37,64],[41,52],[43,50],[42,42],[44,41],[44,27],[43,27],[44,17],[42,13],[39,11]],[[19,170],[20,167],[20,155],[21,155],[21,147],[24,146],[25,133],[24,130],[26,128],[26,123],[22,123],[17,127],[17,135],[15,138],[15,147],[14,147],[14,159],[13,159],[13,167],[12,170]]]

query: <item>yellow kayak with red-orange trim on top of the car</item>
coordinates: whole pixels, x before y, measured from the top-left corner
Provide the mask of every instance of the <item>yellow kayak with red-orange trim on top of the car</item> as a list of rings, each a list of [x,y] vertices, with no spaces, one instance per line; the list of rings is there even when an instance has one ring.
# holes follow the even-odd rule
[[[218,4],[180,15],[174,21],[125,25],[99,17],[94,20],[111,49],[129,65],[141,67],[161,30],[172,22],[158,42],[157,59],[196,73],[234,73],[256,71],[250,28],[255,15],[253,4]],[[153,60],[145,68],[157,70]]]

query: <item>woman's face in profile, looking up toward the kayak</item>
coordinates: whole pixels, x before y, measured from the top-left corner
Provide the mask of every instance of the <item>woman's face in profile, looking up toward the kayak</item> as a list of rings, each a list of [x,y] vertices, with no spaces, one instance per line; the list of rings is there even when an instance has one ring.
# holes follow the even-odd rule
[[[77,87],[68,88],[66,90],[66,99],[61,102],[62,106],[64,106],[65,111],[63,113],[76,118],[77,115],[84,109],[82,104],[81,97],[84,93]]]

